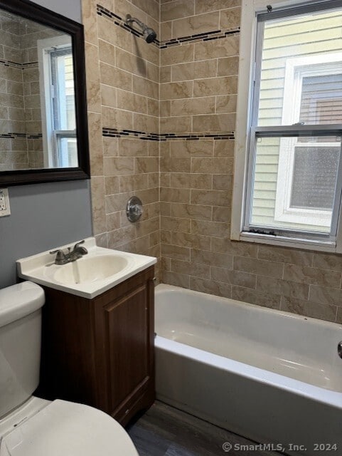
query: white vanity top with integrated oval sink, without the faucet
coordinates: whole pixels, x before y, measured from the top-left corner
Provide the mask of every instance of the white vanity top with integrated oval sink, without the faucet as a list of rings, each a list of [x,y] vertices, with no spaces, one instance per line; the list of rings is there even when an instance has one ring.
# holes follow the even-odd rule
[[[65,250],[73,247],[56,247]],[[92,299],[156,263],[156,258],[97,247],[94,237],[85,239],[87,254],[67,264],[54,264],[49,251],[16,261],[18,276],[53,289]]]

